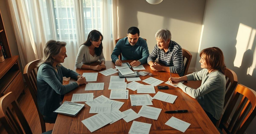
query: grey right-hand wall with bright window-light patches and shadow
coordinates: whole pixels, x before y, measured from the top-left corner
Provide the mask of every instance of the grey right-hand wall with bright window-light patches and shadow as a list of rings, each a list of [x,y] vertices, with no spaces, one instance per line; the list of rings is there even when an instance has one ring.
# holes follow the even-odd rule
[[[238,82],[256,90],[256,0],[207,0],[199,51],[219,47]],[[201,70],[200,57],[196,69]],[[255,133],[256,118],[246,133]]]

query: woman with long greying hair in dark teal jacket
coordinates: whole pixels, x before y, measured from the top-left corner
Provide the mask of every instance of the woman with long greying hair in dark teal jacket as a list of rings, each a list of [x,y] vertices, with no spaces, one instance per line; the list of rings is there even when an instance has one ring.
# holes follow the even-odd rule
[[[49,40],[43,49],[43,58],[38,63],[37,98],[40,113],[45,120],[55,121],[57,113],[53,112],[61,106],[64,95],[86,84],[86,79],[78,73],[65,68],[60,63],[67,57],[66,42]],[[76,82],[62,85],[63,77],[77,79]]]

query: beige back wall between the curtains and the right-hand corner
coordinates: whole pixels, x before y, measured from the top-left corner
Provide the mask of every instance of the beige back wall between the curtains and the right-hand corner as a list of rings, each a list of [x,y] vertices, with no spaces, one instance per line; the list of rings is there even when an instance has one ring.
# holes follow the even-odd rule
[[[163,0],[152,5],[146,0],[120,0],[120,32],[126,37],[129,27],[140,30],[140,37],[146,38],[149,52],[156,45],[155,33],[167,28],[172,40],[191,52],[191,72],[194,71],[200,41],[205,0]]]

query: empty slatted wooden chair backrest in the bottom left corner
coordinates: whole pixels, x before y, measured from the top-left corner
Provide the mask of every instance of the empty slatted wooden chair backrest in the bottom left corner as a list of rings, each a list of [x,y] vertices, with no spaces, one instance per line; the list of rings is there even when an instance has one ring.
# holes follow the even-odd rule
[[[14,116],[13,111],[8,107],[11,104],[21,126]],[[23,134],[23,130],[26,134],[32,134],[29,124],[12,92],[7,93],[0,98],[0,122],[8,134]]]

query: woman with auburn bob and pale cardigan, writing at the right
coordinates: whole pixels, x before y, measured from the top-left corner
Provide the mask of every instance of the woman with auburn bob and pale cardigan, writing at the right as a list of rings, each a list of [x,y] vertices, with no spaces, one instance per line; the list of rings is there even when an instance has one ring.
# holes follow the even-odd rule
[[[225,98],[226,79],[224,56],[220,48],[205,48],[200,52],[201,71],[179,78],[169,78],[169,82],[177,85],[183,92],[197,99],[207,116],[215,125],[220,120]],[[180,81],[202,80],[197,89],[185,86]]]

